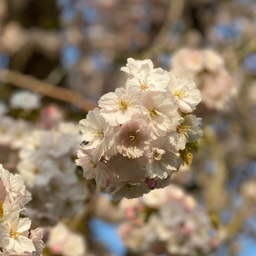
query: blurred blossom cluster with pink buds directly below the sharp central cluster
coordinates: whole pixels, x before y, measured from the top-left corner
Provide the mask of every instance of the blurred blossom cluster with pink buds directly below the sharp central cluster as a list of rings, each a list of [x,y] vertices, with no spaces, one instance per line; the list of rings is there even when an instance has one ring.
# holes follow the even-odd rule
[[[221,241],[204,208],[174,185],[123,199],[119,210],[123,221],[118,233],[139,255],[208,255]]]

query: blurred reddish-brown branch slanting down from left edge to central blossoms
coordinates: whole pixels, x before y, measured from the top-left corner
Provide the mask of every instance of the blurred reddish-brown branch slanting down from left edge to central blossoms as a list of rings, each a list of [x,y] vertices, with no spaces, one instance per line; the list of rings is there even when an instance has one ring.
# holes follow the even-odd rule
[[[33,76],[23,75],[16,71],[0,68],[0,81],[16,87],[30,89],[56,100],[71,103],[81,110],[88,112],[97,106],[97,102],[84,98],[77,91],[51,85]]]

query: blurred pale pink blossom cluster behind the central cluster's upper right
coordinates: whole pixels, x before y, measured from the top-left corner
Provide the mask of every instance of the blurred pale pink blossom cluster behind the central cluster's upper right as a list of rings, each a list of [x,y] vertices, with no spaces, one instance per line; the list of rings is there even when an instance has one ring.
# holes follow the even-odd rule
[[[183,48],[174,53],[171,72],[189,76],[202,94],[202,102],[210,109],[227,111],[237,93],[234,79],[224,67],[224,60],[211,49]]]

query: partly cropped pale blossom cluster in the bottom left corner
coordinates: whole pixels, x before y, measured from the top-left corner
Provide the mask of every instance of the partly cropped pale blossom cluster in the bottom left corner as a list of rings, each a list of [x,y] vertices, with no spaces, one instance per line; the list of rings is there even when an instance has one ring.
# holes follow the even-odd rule
[[[41,255],[43,230],[30,230],[30,219],[20,217],[30,200],[31,194],[20,175],[11,174],[0,165],[0,255]]]

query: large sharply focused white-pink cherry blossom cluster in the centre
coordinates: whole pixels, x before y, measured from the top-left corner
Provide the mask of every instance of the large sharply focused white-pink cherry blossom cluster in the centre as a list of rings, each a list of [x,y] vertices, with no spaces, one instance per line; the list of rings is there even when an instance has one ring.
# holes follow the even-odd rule
[[[103,95],[80,121],[76,161],[114,200],[167,186],[202,137],[201,119],[192,115],[201,96],[191,79],[154,69],[151,60],[130,58],[121,70],[126,88]]]

